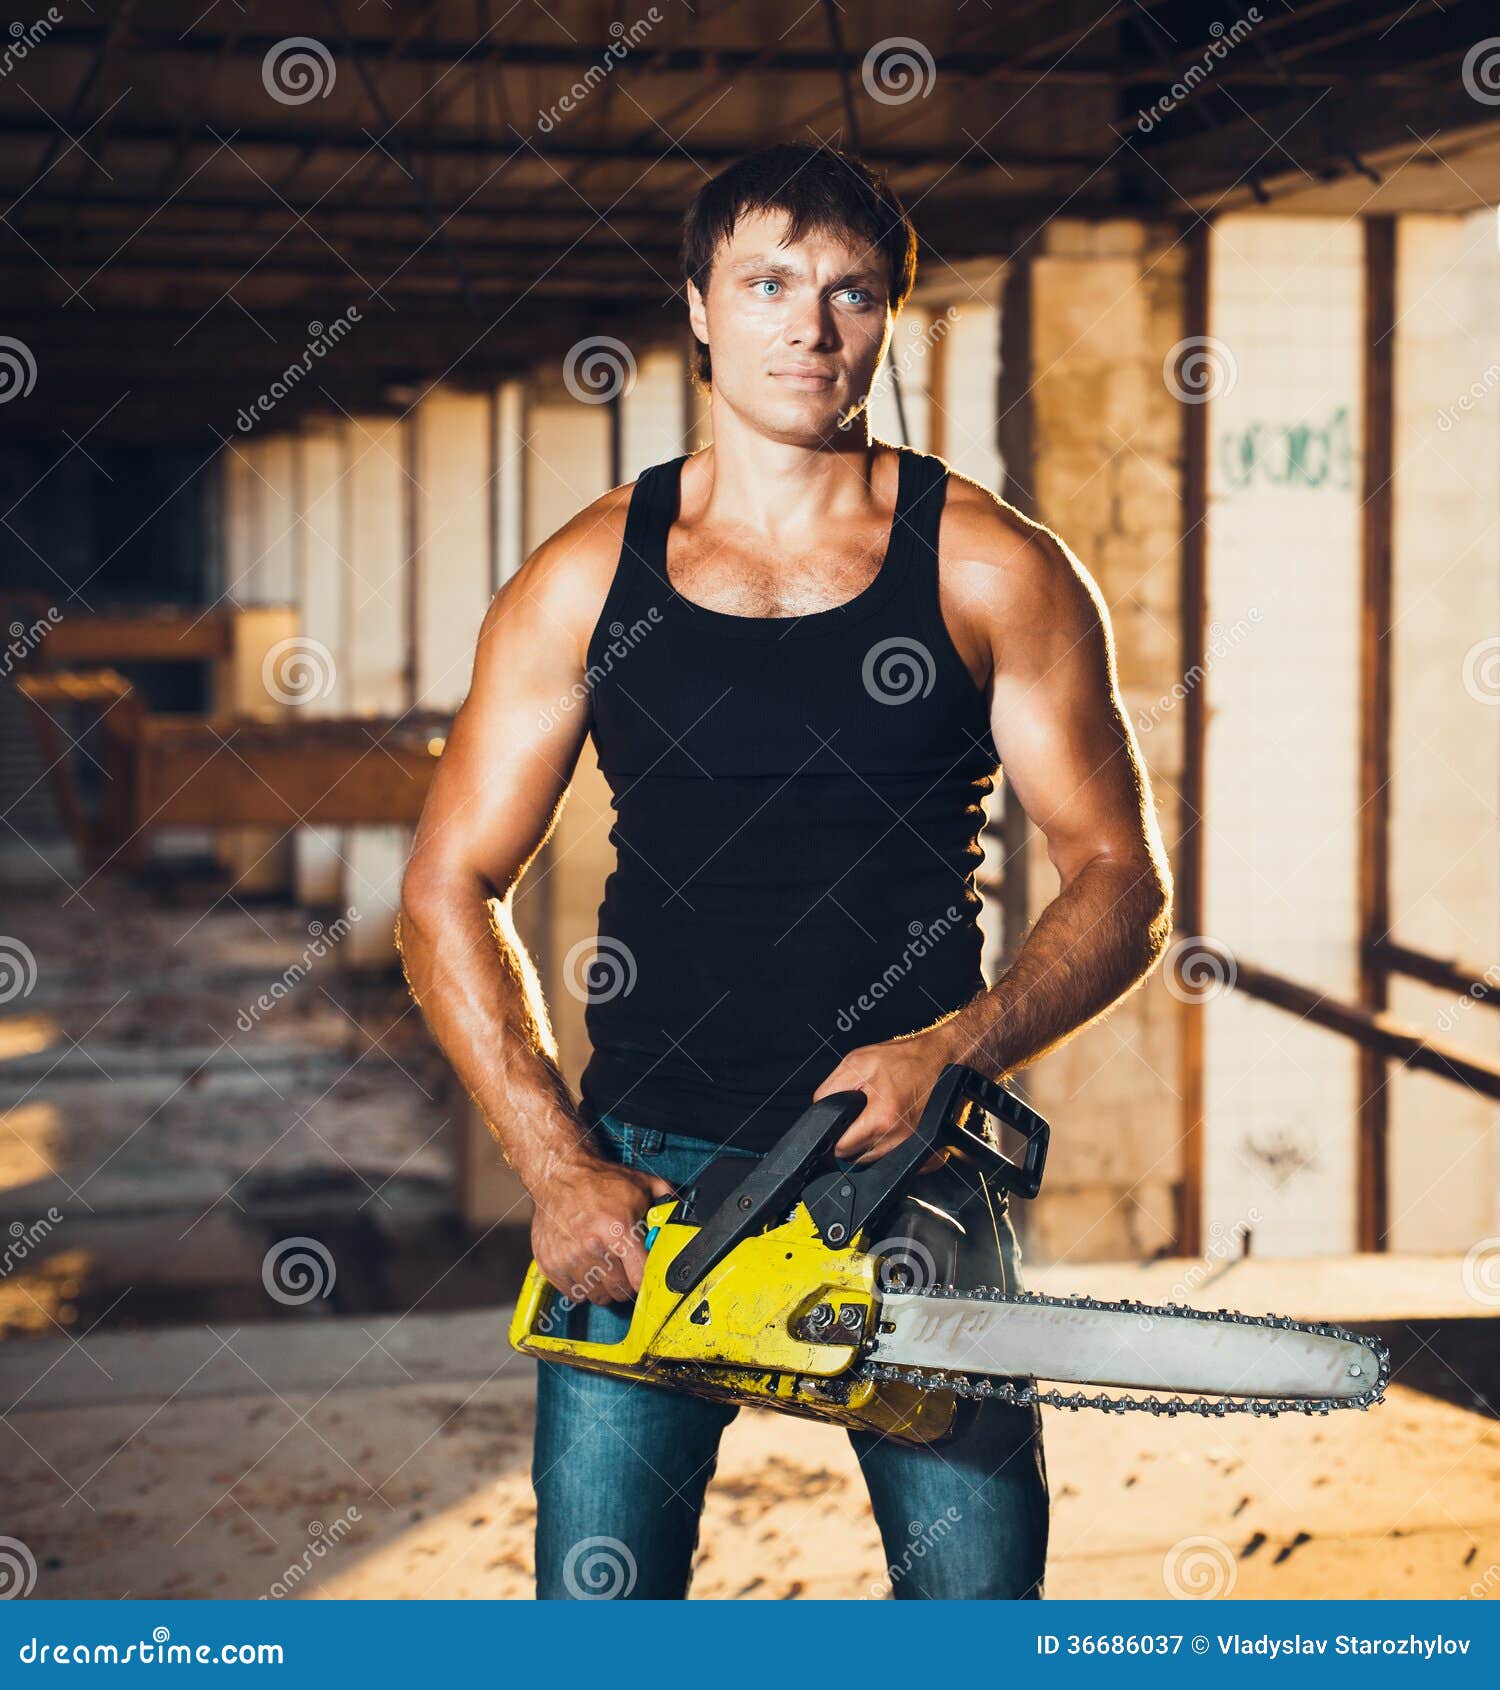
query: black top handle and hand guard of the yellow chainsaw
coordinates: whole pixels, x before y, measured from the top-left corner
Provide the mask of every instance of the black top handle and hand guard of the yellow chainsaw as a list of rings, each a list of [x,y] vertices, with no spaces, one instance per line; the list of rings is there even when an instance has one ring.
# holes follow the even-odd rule
[[[806,1109],[682,1246],[667,1268],[667,1288],[689,1291],[742,1239],[774,1225],[797,1198],[807,1205],[823,1242],[831,1249],[846,1247],[902,1195],[934,1151],[943,1151],[948,1166],[963,1176],[965,1202],[986,1183],[1017,1197],[1035,1197],[1041,1190],[1047,1122],[1014,1092],[961,1063],[943,1070],[916,1131],[895,1149],[867,1168],[821,1171],[833,1161],[833,1146],[865,1102],[863,1092],[834,1092]],[[976,1110],[980,1119],[975,1122]],[[1022,1161],[1012,1161],[985,1136],[985,1115],[1022,1136]]]

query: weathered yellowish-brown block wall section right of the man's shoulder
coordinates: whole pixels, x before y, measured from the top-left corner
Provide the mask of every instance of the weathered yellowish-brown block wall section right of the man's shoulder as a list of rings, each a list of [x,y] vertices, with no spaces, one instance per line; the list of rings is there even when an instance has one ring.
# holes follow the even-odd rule
[[[1169,701],[1181,681],[1182,441],[1162,365],[1182,333],[1181,289],[1174,233],[1133,221],[1052,223],[1032,262],[1035,514],[1073,548],[1110,608],[1120,690],[1169,848],[1181,779],[1181,711]],[[944,341],[946,450],[976,466],[998,465],[993,433],[965,428],[954,439],[953,422],[965,416],[961,394],[993,384],[998,341],[985,324],[981,358],[978,336],[980,323],[963,321]],[[1039,830],[1027,852],[1035,919],[1059,882]],[[1054,1122],[1047,1188],[1027,1205],[1034,1257],[1135,1257],[1171,1242],[1181,1181],[1179,1028],[1181,1009],[1157,973],[1025,1071],[1032,1100]]]

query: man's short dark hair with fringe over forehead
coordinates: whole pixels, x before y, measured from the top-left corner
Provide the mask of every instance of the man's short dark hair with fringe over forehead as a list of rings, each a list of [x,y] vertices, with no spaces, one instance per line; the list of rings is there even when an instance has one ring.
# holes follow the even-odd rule
[[[885,177],[838,147],[784,142],[765,147],[704,183],[682,221],[682,274],[701,294],[720,247],[735,223],[757,211],[791,218],[785,245],[807,232],[843,235],[883,252],[890,267],[890,309],[899,311],[917,277],[917,235]],[[713,379],[708,346],[694,336],[693,373]]]

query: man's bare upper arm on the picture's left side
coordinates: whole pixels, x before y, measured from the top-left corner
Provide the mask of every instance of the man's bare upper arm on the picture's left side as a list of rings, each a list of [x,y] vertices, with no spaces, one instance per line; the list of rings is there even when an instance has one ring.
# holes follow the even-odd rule
[[[495,896],[546,840],[588,732],[576,607],[547,585],[519,575],[490,607],[412,852]]]

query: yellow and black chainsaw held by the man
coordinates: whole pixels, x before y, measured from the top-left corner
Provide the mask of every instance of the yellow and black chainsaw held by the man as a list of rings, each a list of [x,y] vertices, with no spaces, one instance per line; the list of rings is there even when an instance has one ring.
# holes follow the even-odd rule
[[[970,1398],[1152,1415],[1382,1399],[1385,1347],[1340,1327],[1015,1286],[1000,1217],[1041,1190],[1049,1127],[973,1068],[944,1068],[895,1149],[841,1164],[833,1146],[863,1107],[863,1092],[819,1098],[764,1158],[720,1158],[654,1203],[617,1342],[571,1337],[581,1305],[532,1262],[512,1345],[905,1443],[948,1436]]]

